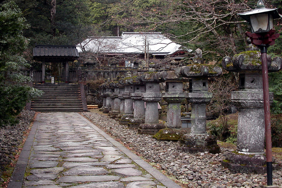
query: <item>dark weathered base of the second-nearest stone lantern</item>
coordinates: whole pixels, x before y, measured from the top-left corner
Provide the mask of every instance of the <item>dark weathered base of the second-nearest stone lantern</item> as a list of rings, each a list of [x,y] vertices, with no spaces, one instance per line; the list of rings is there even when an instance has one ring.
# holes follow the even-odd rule
[[[217,140],[213,135],[209,134],[186,134],[180,139],[180,146],[178,149],[184,152],[197,153],[206,152],[220,153],[220,148],[217,145]]]

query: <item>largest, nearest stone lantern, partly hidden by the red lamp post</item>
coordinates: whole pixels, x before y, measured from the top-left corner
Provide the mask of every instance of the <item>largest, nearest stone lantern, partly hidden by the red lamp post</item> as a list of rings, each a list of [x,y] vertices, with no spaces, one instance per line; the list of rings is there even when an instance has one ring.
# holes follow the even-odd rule
[[[267,56],[269,72],[281,69],[282,59]],[[245,51],[225,57],[222,66],[227,71],[239,72],[239,91],[231,93],[232,102],[238,107],[237,150],[227,154],[223,166],[233,173],[265,173],[264,155],[265,122],[261,53]],[[269,93],[270,101],[273,93]],[[274,160],[274,158],[273,158]],[[274,162],[274,161],[273,161]],[[273,165],[275,168],[275,165]]]

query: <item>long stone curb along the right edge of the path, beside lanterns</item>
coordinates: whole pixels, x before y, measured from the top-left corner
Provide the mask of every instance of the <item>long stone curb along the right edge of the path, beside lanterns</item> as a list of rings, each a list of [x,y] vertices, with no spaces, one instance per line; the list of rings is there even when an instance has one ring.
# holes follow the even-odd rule
[[[122,144],[114,140],[114,138],[110,137],[108,134],[106,134],[104,131],[99,129],[96,125],[94,125],[92,122],[88,121],[85,117],[81,116],[80,114],[76,113],[79,117],[81,117],[82,120],[84,120],[86,123],[88,123],[91,127],[93,127],[98,133],[100,133],[102,136],[104,136],[109,142],[111,142],[114,146],[119,148],[120,151],[122,151],[125,155],[127,155],[129,158],[132,159],[136,164],[141,166],[143,169],[145,169],[148,173],[150,173],[155,179],[160,181],[163,185],[165,185],[168,188],[181,188],[180,185],[173,182],[171,179],[169,179],[167,176],[163,175],[161,172],[159,172],[157,169],[153,168],[151,165],[149,165],[147,162],[142,160],[139,156],[132,153],[129,149],[124,147]]]

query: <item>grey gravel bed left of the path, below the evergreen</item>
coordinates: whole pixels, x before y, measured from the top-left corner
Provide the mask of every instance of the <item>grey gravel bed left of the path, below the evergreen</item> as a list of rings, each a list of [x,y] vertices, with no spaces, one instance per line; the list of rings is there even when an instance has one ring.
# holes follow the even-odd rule
[[[17,116],[19,120],[17,125],[0,126],[0,184],[4,181],[1,176],[6,171],[5,166],[15,159],[14,155],[23,142],[23,135],[29,128],[34,116],[35,111],[23,110]]]

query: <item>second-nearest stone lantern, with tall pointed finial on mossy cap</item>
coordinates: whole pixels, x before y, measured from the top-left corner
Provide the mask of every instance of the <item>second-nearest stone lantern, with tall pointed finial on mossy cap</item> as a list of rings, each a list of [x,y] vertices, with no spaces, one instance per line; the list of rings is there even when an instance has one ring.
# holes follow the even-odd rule
[[[220,153],[217,140],[206,132],[206,104],[211,101],[212,94],[208,91],[208,78],[219,76],[222,69],[218,66],[202,64],[202,51],[195,50],[194,64],[176,68],[176,75],[191,78],[189,93],[185,97],[191,104],[191,133],[181,137],[180,147],[190,153]]]

